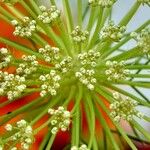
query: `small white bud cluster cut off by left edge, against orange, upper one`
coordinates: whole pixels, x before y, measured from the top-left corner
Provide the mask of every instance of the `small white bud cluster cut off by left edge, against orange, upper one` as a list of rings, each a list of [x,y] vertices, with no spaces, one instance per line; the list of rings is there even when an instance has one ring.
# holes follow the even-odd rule
[[[0,48],[0,69],[7,67],[11,58],[7,48]]]

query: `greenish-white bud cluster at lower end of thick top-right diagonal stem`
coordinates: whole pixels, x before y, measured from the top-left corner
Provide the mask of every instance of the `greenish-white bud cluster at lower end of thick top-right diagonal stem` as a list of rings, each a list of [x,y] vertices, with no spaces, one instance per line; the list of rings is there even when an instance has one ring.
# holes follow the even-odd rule
[[[103,27],[99,37],[102,40],[110,39],[112,41],[118,42],[123,37],[124,32],[126,31],[125,26],[115,25],[113,21],[109,21],[108,25]]]

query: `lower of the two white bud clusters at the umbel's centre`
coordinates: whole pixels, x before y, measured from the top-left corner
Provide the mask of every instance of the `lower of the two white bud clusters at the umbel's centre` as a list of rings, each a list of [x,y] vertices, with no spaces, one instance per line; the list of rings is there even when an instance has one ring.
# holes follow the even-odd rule
[[[78,72],[75,73],[75,76],[89,90],[94,90],[94,84],[96,84],[96,78],[94,78],[94,74],[95,71],[93,69],[87,70],[82,67]]]

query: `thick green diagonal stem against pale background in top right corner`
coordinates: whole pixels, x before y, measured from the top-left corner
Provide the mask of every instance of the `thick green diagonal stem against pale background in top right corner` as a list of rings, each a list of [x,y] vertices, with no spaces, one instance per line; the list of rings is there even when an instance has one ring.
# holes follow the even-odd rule
[[[131,7],[131,9],[128,11],[128,13],[124,16],[124,18],[120,21],[120,26],[126,26],[129,21],[132,19],[134,14],[137,12],[138,8],[140,7],[139,2],[135,2],[135,4]]]

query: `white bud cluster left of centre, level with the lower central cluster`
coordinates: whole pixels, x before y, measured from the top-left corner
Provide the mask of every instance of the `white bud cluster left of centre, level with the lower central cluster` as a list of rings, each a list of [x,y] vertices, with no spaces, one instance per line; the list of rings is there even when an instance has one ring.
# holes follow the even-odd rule
[[[55,70],[51,70],[49,74],[41,75],[39,79],[43,82],[41,85],[42,91],[40,92],[42,97],[48,93],[52,96],[57,94],[57,89],[60,87],[59,81],[61,77]]]

